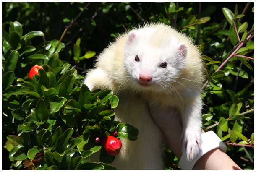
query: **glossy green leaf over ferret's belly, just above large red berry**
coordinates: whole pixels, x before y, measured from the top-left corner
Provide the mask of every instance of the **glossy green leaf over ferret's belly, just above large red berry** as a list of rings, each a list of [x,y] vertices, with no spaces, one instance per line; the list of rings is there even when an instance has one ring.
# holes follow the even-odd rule
[[[118,131],[118,138],[126,138],[131,141],[136,141],[138,136],[138,129],[129,124],[120,123],[115,129]]]

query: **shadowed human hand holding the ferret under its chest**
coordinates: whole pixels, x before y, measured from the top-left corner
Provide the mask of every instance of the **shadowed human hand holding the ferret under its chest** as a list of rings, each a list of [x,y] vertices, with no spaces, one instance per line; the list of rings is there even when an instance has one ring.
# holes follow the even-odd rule
[[[177,109],[168,107],[159,109],[159,107],[149,106],[154,121],[159,126],[165,137],[165,142],[169,149],[180,159],[182,155],[182,132],[183,126],[180,119],[180,113]]]

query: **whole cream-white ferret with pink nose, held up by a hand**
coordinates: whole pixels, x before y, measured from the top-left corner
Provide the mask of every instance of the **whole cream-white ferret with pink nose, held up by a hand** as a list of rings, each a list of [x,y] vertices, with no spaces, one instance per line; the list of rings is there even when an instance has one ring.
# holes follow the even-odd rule
[[[123,147],[118,169],[163,169],[162,133],[149,106],[178,108],[183,123],[183,153],[188,159],[201,147],[203,64],[188,36],[154,23],[120,35],[99,55],[84,83],[89,89],[111,89],[120,102],[115,120],[138,128],[136,141]]]

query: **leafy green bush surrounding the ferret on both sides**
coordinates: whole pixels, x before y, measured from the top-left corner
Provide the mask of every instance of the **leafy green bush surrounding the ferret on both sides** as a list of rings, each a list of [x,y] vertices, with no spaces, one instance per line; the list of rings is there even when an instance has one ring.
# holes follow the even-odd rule
[[[122,130],[136,140],[138,130],[113,121],[118,97],[91,93],[83,75],[118,33],[160,21],[202,52],[203,129],[217,133],[242,169],[253,169],[253,13],[250,3],[3,3],[4,168],[114,169],[106,164],[114,157],[94,139]],[[43,69],[28,78],[35,64]],[[99,150],[103,163],[89,162]],[[163,151],[165,168],[179,169],[171,150]]]

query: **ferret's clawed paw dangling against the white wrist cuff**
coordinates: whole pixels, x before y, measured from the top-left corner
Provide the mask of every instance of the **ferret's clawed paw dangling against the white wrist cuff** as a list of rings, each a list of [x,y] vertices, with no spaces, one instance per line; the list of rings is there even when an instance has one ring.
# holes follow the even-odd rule
[[[193,160],[201,149],[201,133],[187,133],[183,138],[183,154],[186,154],[189,161]]]

